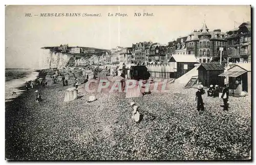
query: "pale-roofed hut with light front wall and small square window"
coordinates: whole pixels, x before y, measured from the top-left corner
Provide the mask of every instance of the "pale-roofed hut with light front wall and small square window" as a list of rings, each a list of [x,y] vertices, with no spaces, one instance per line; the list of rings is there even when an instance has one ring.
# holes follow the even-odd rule
[[[197,59],[189,55],[173,55],[169,60],[170,78],[178,79],[195,67]]]

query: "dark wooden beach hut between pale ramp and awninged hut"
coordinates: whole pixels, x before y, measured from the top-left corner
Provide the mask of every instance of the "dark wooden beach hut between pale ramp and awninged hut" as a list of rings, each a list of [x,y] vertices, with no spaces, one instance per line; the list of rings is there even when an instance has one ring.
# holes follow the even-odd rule
[[[202,63],[198,68],[198,81],[203,86],[224,85],[224,79],[219,75],[224,73],[225,68],[221,64]]]

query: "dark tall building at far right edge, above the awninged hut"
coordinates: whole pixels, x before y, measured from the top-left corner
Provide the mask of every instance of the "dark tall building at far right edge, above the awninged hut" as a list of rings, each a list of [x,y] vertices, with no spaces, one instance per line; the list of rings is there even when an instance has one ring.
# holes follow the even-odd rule
[[[251,23],[244,22],[227,32],[228,62],[251,61]]]

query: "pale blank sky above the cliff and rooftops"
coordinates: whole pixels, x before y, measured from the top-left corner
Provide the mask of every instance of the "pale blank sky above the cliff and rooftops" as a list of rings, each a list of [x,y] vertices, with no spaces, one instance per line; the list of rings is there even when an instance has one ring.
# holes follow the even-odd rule
[[[126,17],[108,16],[123,13]],[[153,16],[134,16],[135,12]],[[31,13],[32,17],[26,17]],[[41,17],[41,13],[80,13],[80,16]],[[82,17],[82,13],[100,17]],[[34,16],[38,15],[38,16]],[[87,46],[111,49],[142,41],[167,44],[205,20],[210,31],[226,32],[250,21],[250,6],[7,6],[6,68],[35,68],[43,46]],[[236,21],[236,23],[234,23]]]

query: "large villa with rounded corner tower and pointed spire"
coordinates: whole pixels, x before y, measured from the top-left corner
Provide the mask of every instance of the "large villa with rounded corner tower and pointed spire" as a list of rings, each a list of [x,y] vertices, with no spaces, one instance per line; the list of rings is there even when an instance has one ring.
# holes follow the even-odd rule
[[[226,33],[220,29],[209,31],[204,22],[200,31],[194,30],[188,35],[185,41],[186,54],[195,55],[200,63],[218,62],[220,56],[222,60],[227,59],[225,36]]]

